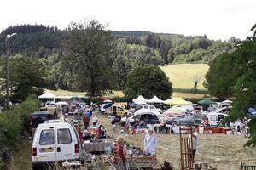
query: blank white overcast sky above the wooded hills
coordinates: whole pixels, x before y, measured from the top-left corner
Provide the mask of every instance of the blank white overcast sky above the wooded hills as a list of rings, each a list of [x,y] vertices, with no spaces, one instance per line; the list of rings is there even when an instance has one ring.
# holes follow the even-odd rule
[[[256,0],[1,0],[0,29],[20,24],[67,28],[83,18],[116,31],[153,31],[211,39],[245,39]]]

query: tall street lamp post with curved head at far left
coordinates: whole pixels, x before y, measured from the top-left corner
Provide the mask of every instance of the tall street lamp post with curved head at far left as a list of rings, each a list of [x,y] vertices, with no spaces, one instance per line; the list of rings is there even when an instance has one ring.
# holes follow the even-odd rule
[[[6,109],[9,110],[9,38],[15,36],[16,33],[7,35],[5,38],[5,48],[6,48],[6,57],[5,57],[5,72],[6,72]]]

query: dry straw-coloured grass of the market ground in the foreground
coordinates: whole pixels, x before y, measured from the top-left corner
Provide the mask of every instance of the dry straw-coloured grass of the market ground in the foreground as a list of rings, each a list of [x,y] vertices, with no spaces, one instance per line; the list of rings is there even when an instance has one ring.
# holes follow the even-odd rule
[[[129,135],[113,133],[113,127],[106,116],[97,114],[99,123],[107,127],[108,134],[113,137],[122,135],[129,144],[143,149],[144,134]],[[160,162],[169,161],[178,169],[180,162],[179,135],[157,134],[157,156]],[[196,162],[207,162],[218,170],[238,170],[241,167],[240,158],[247,163],[256,164],[255,150],[243,147],[247,138],[243,136],[225,134],[200,134],[198,150],[195,155]]]

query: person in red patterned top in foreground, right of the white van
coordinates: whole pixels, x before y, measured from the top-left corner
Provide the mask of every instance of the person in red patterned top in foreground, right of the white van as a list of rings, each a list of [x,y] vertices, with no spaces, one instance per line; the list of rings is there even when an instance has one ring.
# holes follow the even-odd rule
[[[126,170],[126,148],[124,146],[124,139],[118,137],[113,143],[113,165],[116,170]]]

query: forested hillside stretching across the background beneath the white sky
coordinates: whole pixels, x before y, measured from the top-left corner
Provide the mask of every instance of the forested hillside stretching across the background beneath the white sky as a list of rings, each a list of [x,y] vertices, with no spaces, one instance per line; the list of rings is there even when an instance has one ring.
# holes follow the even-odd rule
[[[81,28],[84,28],[84,30]],[[101,90],[105,92],[105,89],[123,88],[127,73],[138,65],[208,63],[216,59],[219,54],[230,53],[234,49],[236,41],[238,41],[235,37],[231,37],[229,41],[223,42],[220,40],[210,40],[206,35],[186,37],[178,34],[153,33],[148,31],[106,31],[106,28],[96,21],[90,22],[88,27],[81,27],[77,23],[66,30],[59,30],[57,27],[43,25],[10,26],[0,34],[0,55],[2,54],[2,59],[0,59],[0,65],[2,65],[2,68],[0,67],[1,77],[4,77],[3,56],[5,52],[5,37],[7,34],[14,32],[18,35],[12,37],[9,42],[10,54],[12,56],[10,65],[20,64],[20,58],[32,58],[31,64],[39,65],[38,70],[41,71],[40,76],[44,79],[44,85],[47,88],[69,90],[81,89],[81,84],[86,84],[88,81],[91,82],[90,78],[84,79],[84,82],[78,82],[75,77],[79,74],[79,69],[82,72],[84,71],[85,65],[85,72],[90,72],[90,74],[84,73],[84,75],[87,75],[86,77],[97,77],[96,72],[99,74],[102,71],[102,77],[98,78],[103,79],[108,77],[108,80],[115,82],[103,83],[101,87],[94,89],[100,94]],[[102,34],[99,34],[99,32]],[[88,36],[86,37],[87,39],[80,38],[83,34]],[[95,37],[95,35],[102,35],[102,37]],[[99,41],[100,39],[106,42],[106,44],[111,44],[109,49]],[[74,47],[73,44],[75,44]],[[99,48],[101,46],[102,48]],[[82,48],[84,48],[86,53],[82,51]],[[102,49],[105,49],[105,52],[108,51],[108,53],[103,53],[104,56],[106,55],[104,59],[96,55]],[[81,57],[80,60],[72,60],[73,56],[77,53],[84,53],[81,54],[84,57]],[[97,56],[96,59],[93,60],[90,54]],[[91,61],[90,65],[93,66],[90,66],[87,61]],[[29,64],[24,65],[24,71],[34,68],[29,66]],[[81,68],[80,65],[82,65]],[[108,72],[104,69],[107,69]],[[17,68],[15,71],[10,71],[12,74],[10,77],[13,77],[11,82],[13,93],[19,91],[19,85],[17,84],[20,81],[15,80],[19,79],[16,74],[17,72],[20,74],[20,70]],[[91,75],[94,76],[92,77]],[[98,78],[93,81],[97,81]],[[3,79],[0,79],[0,81],[3,81]],[[98,85],[101,82],[93,83]],[[31,86],[35,87],[33,83]],[[93,85],[88,84],[88,87],[93,87]]]

